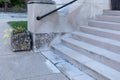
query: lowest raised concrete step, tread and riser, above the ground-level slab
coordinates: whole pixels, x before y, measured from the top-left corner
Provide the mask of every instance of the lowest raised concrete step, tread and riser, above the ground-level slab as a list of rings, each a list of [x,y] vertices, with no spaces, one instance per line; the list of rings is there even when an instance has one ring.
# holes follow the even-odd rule
[[[79,67],[82,71],[94,77],[96,80],[118,80],[120,79],[120,72],[90,59],[82,54],[76,52],[61,44],[52,46],[54,52],[67,59],[75,66]]]

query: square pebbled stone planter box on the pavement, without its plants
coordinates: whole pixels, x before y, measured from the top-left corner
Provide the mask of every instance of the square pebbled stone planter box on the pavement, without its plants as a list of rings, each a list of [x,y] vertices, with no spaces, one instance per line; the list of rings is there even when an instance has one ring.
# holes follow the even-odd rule
[[[32,39],[30,32],[17,33],[11,35],[11,47],[13,51],[23,51],[32,49]]]

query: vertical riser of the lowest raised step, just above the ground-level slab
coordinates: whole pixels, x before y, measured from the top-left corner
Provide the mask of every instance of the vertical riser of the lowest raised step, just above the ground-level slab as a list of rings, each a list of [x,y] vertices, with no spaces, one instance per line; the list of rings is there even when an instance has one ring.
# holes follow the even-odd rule
[[[75,65],[76,67],[78,67],[80,70],[82,70],[83,72],[87,73],[88,75],[94,77],[96,80],[110,80],[107,77],[104,77],[102,74],[97,73],[96,71],[94,71],[93,69],[89,68],[88,66],[77,62],[74,59],[71,59],[69,56],[64,55],[63,52],[55,49],[54,47],[52,47],[52,50],[58,54],[59,56],[61,56],[62,58],[64,58],[65,60],[67,60],[68,62],[70,62],[71,64]]]

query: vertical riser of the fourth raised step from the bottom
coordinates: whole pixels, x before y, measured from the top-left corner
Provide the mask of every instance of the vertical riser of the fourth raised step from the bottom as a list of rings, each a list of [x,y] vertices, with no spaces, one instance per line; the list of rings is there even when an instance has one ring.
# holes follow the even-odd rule
[[[80,28],[80,31],[88,33],[88,34],[94,34],[97,36],[101,37],[106,37],[114,40],[120,40],[120,35],[118,34],[113,34],[113,33],[108,33],[108,32],[103,32],[103,31],[98,31],[98,30],[93,30],[93,29],[88,29],[88,28]]]

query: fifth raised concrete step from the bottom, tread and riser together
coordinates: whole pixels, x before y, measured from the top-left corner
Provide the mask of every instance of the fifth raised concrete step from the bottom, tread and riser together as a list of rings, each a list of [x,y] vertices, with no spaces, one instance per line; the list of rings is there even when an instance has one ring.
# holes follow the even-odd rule
[[[88,26],[120,31],[120,23],[90,20]]]

